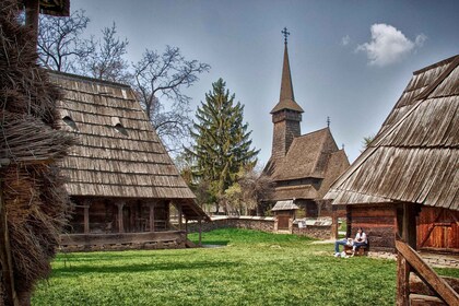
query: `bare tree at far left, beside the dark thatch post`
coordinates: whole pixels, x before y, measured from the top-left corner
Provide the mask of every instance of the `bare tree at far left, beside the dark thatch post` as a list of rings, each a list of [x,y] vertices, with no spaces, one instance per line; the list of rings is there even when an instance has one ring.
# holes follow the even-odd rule
[[[74,72],[75,63],[94,51],[92,39],[81,38],[90,19],[84,10],[68,17],[39,16],[38,56],[52,70]]]

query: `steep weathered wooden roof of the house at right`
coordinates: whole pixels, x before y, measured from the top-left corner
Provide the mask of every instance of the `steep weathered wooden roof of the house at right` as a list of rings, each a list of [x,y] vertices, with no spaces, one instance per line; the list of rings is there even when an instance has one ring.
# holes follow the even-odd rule
[[[459,210],[458,66],[455,56],[414,72],[375,140],[327,198]]]

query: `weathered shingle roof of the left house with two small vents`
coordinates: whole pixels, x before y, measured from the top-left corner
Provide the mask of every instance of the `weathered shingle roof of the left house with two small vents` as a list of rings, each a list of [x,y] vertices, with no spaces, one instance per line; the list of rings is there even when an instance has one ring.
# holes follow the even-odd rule
[[[129,86],[57,72],[50,79],[63,91],[62,129],[80,142],[62,163],[71,196],[193,201]]]

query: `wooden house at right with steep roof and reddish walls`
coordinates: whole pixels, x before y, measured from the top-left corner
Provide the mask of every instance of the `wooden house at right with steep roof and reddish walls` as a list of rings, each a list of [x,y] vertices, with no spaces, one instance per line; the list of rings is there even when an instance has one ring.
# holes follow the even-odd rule
[[[455,56],[414,72],[375,140],[327,195],[346,205],[349,235],[364,227],[372,248],[393,251],[409,215],[413,248],[459,251],[458,63]]]

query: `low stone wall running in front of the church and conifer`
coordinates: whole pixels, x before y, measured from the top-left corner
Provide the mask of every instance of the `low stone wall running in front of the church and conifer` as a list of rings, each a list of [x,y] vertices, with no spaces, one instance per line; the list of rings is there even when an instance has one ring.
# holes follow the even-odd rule
[[[217,228],[246,228],[261,232],[274,232],[274,217],[272,216],[227,216],[213,219],[212,222],[202,223],[202,232],[209,232]],[[199,226],[197,223],[188,223],[188,233],[197,233]],[[293,234],[314,237],[318,239],[329,239],[331,235],[331,224],[306,225],[299,227],[293,224]]]

